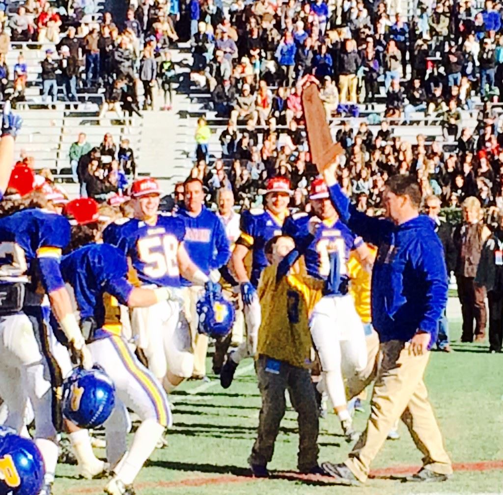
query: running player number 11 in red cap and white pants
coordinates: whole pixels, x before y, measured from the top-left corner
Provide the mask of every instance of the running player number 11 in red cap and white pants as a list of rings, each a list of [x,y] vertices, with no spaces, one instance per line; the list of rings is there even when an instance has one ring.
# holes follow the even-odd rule
[[[352,427],[346,402],[344,377],[361,373],[367,365],[367,348],[362,321],[348,293],[347,262],[350,252],[356,250],[361,258],[368,250],[361,238],[339,221],[323,179],[311,183],[309,199],[314,216],[297,214],[285,222],[284,233],[295,239],[305,237],[309,222],[318,228],[304,254],[307,273],[324,280],[323,297],[314,306],[310,329],[318,353],[322,379],[319,392],[326,391],[334,412],[339,416],[346,440],[353,441],[357,434]]]

